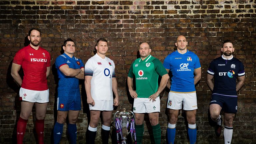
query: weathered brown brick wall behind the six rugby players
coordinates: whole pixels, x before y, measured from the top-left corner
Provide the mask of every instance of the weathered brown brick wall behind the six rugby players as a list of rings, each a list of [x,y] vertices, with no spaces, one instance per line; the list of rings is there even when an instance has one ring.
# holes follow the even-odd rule
[[[176,37],[181,34],[186,36],[188,49],[198,55],[202,66],[202,79],[196,87],[197,143],[201,144],[223,143],[223,135],[216,139],[214,129],[208,124],[207,109],[211,91],[205,77],[210,61],[220,56],[222,41],[234,41],[234,55],[244,63],[246,78],[244,86],[238,92],[239,110],[234,120],[232,143],[255,143],[255,0],[1,0],[0,10],[0,143],[15,142],[20,102],[19,89],[10,76],[10,68],[15,53],[24,47],[25,37],[32,27],[42,29],[41,46],[50,52],[51,65],[60,55],[61,45],[68,37],[75,40],[75,55],[84,63],[94,55],[93,48],[97,39],[108,39],[110,47],[107,55],[116,65],[120,95],[117,110],[130,110],[132,106],[127,97],[126,77],[130,64],[136,59],[139,43],[149,42],[153,48],[152,55],[163,62],[175,49]],[[45,121],[47,143],[51,141],[56,120],[55,76],[53,68],[48,77],[50,102]],[[84,99],[84,85],[81,87],[83,109],[77,123],[78,143],[85,143],[88,105]],[[159,118],[162,143],[166,141],[167,94],[167,91],[163,93]],[[34,114],[35,111],[28,121],[25,143],[35,143]],[[100,127],[97,143],[100,143],[99,132]],[[66,126],[62,141],[67,143],[65,134]],[[153,143],[152,132],[147,126],[144,135],[145,143]],[[188,143],[183,113],[180,113],[177,122],[176,143]]]

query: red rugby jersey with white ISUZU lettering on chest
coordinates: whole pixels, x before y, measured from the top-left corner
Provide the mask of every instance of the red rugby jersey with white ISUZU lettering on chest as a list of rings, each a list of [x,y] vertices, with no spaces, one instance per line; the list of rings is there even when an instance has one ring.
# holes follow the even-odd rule
[[[21,87],[29,90],[47,90],[46,71],[50,66],[51,56],[48,51],[30,45],[20,49],[14,56],[13,63],[21,65],[24,77]]]

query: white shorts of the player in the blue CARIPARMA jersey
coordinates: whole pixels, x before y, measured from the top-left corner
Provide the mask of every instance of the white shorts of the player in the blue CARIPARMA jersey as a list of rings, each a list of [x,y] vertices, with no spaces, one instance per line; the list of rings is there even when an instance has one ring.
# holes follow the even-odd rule
[[[173,110],[195,110],[197,109],[196,92],[193,93],[174,93],[169,92],[167,108]]]

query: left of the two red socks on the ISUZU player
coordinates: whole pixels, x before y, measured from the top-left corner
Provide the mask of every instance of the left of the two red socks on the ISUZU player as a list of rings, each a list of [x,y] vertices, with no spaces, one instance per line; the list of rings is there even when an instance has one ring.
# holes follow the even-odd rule
[[[27,127],[27,121],[28,120],[24,120],[20,117],[17,122],[17,144],[22,144],[23,142],[23,138]]]

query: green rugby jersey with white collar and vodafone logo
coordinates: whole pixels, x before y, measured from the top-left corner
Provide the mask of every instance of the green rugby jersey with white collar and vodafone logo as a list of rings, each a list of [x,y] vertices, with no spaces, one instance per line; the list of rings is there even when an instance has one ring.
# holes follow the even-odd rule
[[[146,59],[136,59],[129,70],[128,77],[136,80],[136,93],[139,98],[148,98],[157,92],[158,77],[167,74],[159,59],[149,55]]]

